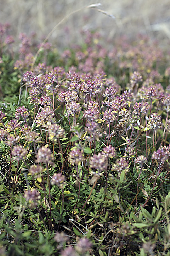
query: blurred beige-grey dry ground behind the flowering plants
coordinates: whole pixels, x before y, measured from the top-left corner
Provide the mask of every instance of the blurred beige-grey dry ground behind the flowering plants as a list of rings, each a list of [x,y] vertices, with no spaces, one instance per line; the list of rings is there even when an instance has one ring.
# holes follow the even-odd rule
[[[134,40],[139,33],[157,39],[163,47],[170,40],[170,0],[100,0],[99,9],[87,5],[94,0],[0,0],[0,23],[9,22],[15,39],[21,32],[37,34],[40,42],[71,12],[52,33],[49,42],[58,48],[82,42],[82,31],[98,31],[105,43],[125,35]]]

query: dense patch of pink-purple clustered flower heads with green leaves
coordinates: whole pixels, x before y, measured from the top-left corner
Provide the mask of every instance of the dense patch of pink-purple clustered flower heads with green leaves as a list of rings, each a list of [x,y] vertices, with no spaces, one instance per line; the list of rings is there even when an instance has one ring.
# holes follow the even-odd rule
[[[170,255],[168,54],[0,26],[0,254]]]

